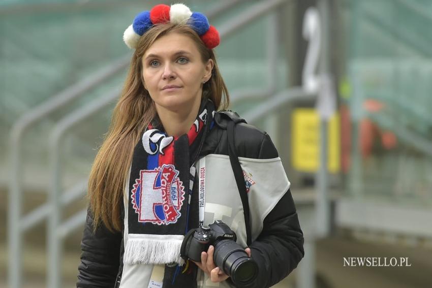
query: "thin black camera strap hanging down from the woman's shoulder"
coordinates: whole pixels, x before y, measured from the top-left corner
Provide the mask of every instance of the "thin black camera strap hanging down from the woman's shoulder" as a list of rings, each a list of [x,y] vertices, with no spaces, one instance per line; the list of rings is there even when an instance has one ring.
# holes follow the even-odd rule
[[[241,204],[243,204],[244,223],[246,226],[246,244],[248,244],[249,246],[252,243],[249,200],[248,193],[246,192],[246,185],[244,184],[243,169],[241,168],[240,162],[238,161],[237,152],[234,144],[234,126],[237,122],[232,118],[231,120],[232,121],[228,121],[227,125],[228,152],[230,156],[231,168],[234,172],[235,181],[237,183],[237,188],[241,198]]]

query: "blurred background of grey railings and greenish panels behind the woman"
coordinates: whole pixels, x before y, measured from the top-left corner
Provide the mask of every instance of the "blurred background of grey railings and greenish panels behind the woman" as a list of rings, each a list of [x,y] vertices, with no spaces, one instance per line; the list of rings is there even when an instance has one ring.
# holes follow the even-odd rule
[[[122,34],[159,3],[0,2],[0,287],[74,286]],[[430,287],[432,1],[183,3],[218,28],[230,109],[270,135],[292,183],[306,254],[275,287]]]

